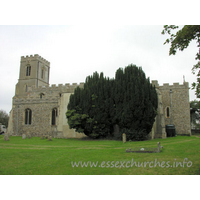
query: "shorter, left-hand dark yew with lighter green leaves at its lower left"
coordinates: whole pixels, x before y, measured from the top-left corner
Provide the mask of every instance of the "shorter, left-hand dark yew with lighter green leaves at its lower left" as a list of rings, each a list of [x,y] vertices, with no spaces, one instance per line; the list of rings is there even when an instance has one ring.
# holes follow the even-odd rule
[[[86,78],[84,88],[75,89],[70,96],[66,116],[70,128],[92,138],[106,137],[112,128],[110,117],[113,101],[110,89],[113,80],[95,72]]]

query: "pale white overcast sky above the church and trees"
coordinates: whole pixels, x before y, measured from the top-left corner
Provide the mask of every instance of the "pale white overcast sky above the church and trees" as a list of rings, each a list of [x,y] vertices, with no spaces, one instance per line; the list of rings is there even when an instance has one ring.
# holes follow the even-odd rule
[[[0,109],[12,108],[21,56],[39,54],[50,62],[50,85],[84,82],[93,72],[110,78],[119,67],[141,66],[159,84],[191,83],[198,51],[192,42],[169,56],[163,25],[129,26],[0,26]],[[195,99],[190,90],[190,100]]]

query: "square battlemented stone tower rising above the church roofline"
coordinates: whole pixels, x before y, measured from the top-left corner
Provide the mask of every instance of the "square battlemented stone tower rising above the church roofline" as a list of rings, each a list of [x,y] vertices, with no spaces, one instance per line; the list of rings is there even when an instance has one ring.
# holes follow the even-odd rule
[[[35,54],[22,56],[15,96],[26,96],[29,88],[49,85],[50,62]]]

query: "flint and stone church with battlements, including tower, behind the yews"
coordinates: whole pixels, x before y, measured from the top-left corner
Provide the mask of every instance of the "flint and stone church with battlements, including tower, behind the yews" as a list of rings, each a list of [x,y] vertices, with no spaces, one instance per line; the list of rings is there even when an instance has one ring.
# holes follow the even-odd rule
[[[85,135],[69,129],[66,111],[74,89],[84,83],[49,86],[50,62],[38,54],[22,56],[19,80],[16,84],[10,111],[9,135],[42,136],[56,138],[81,138]],[[174,124],[177,134],[191,134],[189,84],[164,84],[152,81],[158,94],[158,115],[150,137],[166,138],[165,126]]]

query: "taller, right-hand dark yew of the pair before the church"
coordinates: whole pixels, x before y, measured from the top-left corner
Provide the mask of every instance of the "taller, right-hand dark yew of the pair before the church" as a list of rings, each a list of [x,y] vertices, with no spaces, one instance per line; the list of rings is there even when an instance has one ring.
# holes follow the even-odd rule
[[[116,124],[128,139],[145,139],[150,133],[157,110],[157,93],[142,68],[130,65],[115,76]]]

